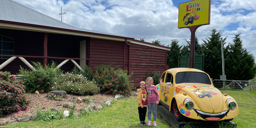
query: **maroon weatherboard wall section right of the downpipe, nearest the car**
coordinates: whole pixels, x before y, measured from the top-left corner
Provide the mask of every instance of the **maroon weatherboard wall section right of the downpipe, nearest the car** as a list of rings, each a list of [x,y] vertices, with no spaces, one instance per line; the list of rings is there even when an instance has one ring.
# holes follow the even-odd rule
[[[145,81],[147,72],[166,70],[166,50],[139,44],[131,44],[131,72],[134,87],[139,87],[140,81]],[[159,83],[154,83],[159,84]]]

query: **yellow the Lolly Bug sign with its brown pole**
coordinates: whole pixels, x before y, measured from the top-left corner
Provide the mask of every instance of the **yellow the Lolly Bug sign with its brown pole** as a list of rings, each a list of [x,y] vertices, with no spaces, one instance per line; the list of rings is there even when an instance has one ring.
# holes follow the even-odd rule
[[[179,4],[178,28],[191,32],[189,68],[194,68],[196,29],[210,24],[211,0],[193,0]]]

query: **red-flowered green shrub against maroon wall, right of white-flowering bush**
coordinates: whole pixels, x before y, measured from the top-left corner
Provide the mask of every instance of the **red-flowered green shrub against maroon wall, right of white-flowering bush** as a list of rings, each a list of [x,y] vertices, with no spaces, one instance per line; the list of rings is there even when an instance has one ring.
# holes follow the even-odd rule
[[[133,84],[130,80],[131,75],[127,75],[127,70],[121,68],[111,67],[109,65],[101,65],[95,67],[94,78],[99,84],[100,91],[106,94],[125,94],[130,93]]]

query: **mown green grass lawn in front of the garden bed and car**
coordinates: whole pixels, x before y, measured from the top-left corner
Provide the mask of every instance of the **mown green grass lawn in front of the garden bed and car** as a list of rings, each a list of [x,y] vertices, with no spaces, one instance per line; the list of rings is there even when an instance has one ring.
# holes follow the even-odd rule
[[[91,115],[79,115],[74,118],[62,120],[20,122],[10,124],[6,128],[148,128],[146,125],[140,125],[137,97],[124,98],[117,100],[111,107],[95,112]],[[233,119],[237,128],[255,128],[256,127],[256,106],[238,104],[239,115]],[[153,116],[152,119],[153,120]],[[146,121],[147,116],[146,116]],[[159,114],[157,115],[157,127],[171,127]],[[153,126],[151,126],[153,127]]]

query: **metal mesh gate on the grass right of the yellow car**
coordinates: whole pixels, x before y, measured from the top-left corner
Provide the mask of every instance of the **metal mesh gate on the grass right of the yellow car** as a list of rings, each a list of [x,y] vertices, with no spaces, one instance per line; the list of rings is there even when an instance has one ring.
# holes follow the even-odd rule
[[[213,80],[222,94],[232,96],[237,103],[256,106],[256,81]]]

